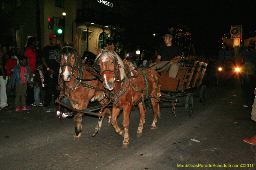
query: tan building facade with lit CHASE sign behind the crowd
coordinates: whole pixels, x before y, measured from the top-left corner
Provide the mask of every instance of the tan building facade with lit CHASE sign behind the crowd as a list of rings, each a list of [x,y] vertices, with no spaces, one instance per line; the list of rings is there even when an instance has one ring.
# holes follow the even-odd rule
[[[118,0],[0,0],[0,21],[5,28],[1,31],[7,30],[8,41],[16,48],[23,49],[29,35],[43,48],[49,45],[49,35],[56,33],[59,20],[65,19],[58,38],[62,41],[64,34],[64,42],[76,41],[79,55],[85,50],[95,54],[94,48],[102,48],[111,31],[125,26],[131,9],[129,3]],[[52,29],[48,28],[48,18],[54,18]],[[6,41],[4,38],[0,41]]]

